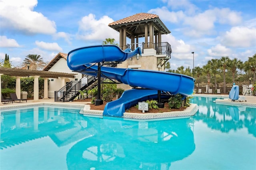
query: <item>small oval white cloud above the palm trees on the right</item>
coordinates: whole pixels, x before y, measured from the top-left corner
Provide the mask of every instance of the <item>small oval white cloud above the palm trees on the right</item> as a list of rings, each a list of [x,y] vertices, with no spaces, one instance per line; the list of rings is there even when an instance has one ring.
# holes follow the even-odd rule
[[[212,47],[211,49],[208,49],[208,54],[211,57],[217,57],[220,58],[222,56],[229,56],[230,54],[232,54],[232,50],[226,48],[223,45],[217,44],[216,46]]]

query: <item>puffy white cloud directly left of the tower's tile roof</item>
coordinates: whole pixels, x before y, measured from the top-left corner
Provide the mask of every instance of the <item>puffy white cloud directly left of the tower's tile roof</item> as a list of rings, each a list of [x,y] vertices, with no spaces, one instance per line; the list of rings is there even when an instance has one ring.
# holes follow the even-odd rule
[[[119,33],[108,26],[112,18],[103,16],[96,20],[95,15],[89,14],[79,21],[78,39],[104,41],[106,38],[119,40]]]

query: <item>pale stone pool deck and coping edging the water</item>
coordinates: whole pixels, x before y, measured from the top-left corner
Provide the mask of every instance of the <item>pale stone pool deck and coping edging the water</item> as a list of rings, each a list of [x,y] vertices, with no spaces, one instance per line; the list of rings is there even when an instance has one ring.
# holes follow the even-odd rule
[[[243,96],[246,98],[245,100],[239,101],[232,101],[228,98],[228,95],[209,95],[209,94],[193,94],[192,96],[196,97],[214,97],[214,98],[222,98],[217,99],[216,104],[225,104],[225,105],[235,105],[235,106],[249,106],[249,107],[256,107],[256,97],[255,96]],[[240,96],[241,97],[241,96]],[[50,104],[52,106],[76,106],[76,107],[83,107],[84,109],[80,111],[80,113],[85,115],[92,115],[92,116],[102,116],[102,110],[91,110],[90,109],[90,102],[54,102],[54,99],[39,99],[38,102],[34,102],[33,100],[28,100],[27,102],[13,102],[8,104],[0,104],[0,109],[13,109],[15,107],[26,107],[26,106],[33,106],[38,104]],[[124,113],[124,118],[127,119],[163,119],[163,118],[178,118],[178,117],[189,117],[196,113],[198,107],[196,104],[191,104],[184,111],[171,111],[171,112],[164,112],[164,113]]]

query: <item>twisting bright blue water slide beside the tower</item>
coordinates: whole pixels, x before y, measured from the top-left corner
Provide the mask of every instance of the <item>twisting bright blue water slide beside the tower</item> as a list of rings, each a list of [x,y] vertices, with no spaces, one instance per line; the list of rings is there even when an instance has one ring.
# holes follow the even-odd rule
[[[138,47],[134,51],[122,51],[116,45],[94,45],[74,49],[68,53],[67,63],[71,70],[91,76],[97,75],[98,66],[92,63],[107,61],[122,62],[141,54]],[[139,70],[131,68],[101,67],[101,77],[118,80],[130,86],[147,89],[126,90],[122,96],[106,104],[103,115],[122,117],[126,109],[140,101],[157,98],[157,90],[190,96],[194,91],[195,79],[183,74],[170,72]],[[152,90],[149,90],[152,89]]]

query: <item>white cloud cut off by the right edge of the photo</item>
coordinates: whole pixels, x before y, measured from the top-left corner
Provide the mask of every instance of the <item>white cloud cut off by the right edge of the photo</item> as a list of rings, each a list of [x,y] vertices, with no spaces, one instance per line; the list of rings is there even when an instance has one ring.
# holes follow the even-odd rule
[[[252,47],[256,45],[256,28],[232,27],[220,39],[229,47]]]

